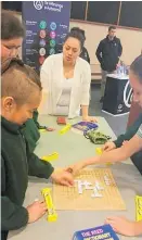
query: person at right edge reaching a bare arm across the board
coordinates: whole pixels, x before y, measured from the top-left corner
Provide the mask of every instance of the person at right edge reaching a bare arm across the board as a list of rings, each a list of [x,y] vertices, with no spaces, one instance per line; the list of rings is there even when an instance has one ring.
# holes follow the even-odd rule
[[[130,85],[133,89],[133,101],[142,108],[142,55],[139,55],[130,65],[129,71]],[[141,119],[140,119],[141,122]],[[139,122],[139,124],[140,124]],[[94,165],[99,163],[116,163],[121,162],[130,157],[137,152],[142,151],[142,123],[138,129],[138,124],[131,130],[132,136],[129,140],[122,144],[120,148],[113,149],[111,151],[103,151],[101,155],[85,160],[82,162],[76,163],[72,166],[68,166],[73,174],[76,174],[78,170],[87,167],[89,165]],[[127,139],[127,138],[125,138]],[[142,159],[140,159],[142,161]],[[132,176],[131,176],[132,177]],[[140,184],[141,185],[141,184]],[[105,224],[109,224],[113,229],[122,236],[133,237],[142,235],[142,219],[140,220],[129,220],[126,217],[121,216],[108,216],[105,220]]]

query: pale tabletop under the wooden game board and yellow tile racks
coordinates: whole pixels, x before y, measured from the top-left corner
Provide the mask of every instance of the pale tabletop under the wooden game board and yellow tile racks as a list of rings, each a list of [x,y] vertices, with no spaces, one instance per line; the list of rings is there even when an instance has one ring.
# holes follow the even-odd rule
[[[106,121],[103,117],[98,117],[98,119],[100,130],[103,130],[106,135],[109,135],[113,139],[115,139],[115,135]],[[76,122],[79,122],[79,119],[70,121],[70,123]],[[56,126],[54,117],[41,116],[40,123],[43,125],[48,124],[56,129],[61,128]],[[60,136],[57,131],[42,132],[39,144],[36,148],[36,153],[39,156],[42,156],[44,154],[50,154],[57,151],[60,153],[60,159],[53,161],[52,164],[55,167],[62,167],[76,161],[93,156],[95,154],[95,147],[96,146],[91,143],[88,139],[81,135],[73,132],[72,130],[63,136]],[[115,164],[111,166],[111,168],[122,199],[126,202],[127,211],[57,211],[57,222],[48,223],[46,216],[43,216],[41,219],[28,225],[26,228],[11,231],[9,239],[72,240],[73,233],[76,230],[103,225],[104,219],[108,215],[125,215],[130,219],[134,219],[134,195],[142,194],[142,188],[140,185],[142,177],[130,160],[128,160],[126,163]],[[51,182],[48,184],[48,180],[46,179],[30,178],[24,205],[31,203],[36,198],[41,199],[40,190],[47,186],[51,186]],[[119,236],[119,239],[127,240],[128,237]],[[142,239],[142,237],[131,238],[131,240],[137,239]]]

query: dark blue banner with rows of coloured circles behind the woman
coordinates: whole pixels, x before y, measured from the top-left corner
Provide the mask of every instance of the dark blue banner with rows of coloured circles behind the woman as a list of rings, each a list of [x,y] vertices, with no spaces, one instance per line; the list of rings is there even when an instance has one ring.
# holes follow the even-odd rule
[[[70,2],[23,1],[26,37],[23,61],[38,72],[48,55],[62,51],[69,27]]]

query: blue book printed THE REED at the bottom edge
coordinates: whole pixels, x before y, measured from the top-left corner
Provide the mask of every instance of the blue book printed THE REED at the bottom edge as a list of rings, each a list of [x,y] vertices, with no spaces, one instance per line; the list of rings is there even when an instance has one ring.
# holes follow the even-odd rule
[[[73,240],[119,240],[111,225],[76,231]]]

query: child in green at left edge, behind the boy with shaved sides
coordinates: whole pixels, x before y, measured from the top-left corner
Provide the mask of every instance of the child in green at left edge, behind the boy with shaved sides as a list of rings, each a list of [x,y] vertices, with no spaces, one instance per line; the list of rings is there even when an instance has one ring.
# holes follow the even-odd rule
[[[25,37],[25,26],[13,11],[2,10],[1,12],[1,62],[8,58],[18,56],[20,48],[22,47],[23,38]],[[33,152],[36,148],[37,141],[40,138],[39,129],[41,127],[38,123],[38,112],[34,113],[33,119],[25,123],[23,134],[26,137],[29,150]],[[52,128],[49,128],[49,130]]]

